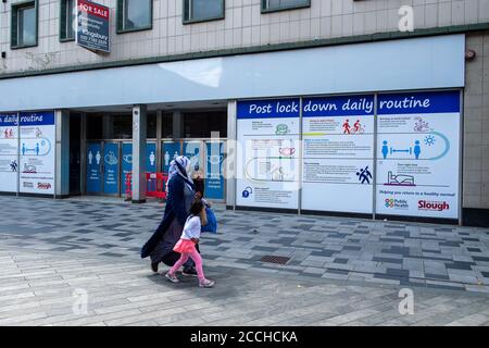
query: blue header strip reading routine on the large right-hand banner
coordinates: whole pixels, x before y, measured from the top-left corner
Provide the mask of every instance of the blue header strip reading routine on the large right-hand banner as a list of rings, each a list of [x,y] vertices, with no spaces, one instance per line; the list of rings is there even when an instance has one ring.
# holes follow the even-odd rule
[[[460,91],[379,95],[377,114],[460,112]]]

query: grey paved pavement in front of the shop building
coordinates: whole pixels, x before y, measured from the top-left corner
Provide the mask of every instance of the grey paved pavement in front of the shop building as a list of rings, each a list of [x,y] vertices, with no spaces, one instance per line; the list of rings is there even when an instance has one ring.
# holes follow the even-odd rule
[[[139,258],[160,203],[0,206],[0,325],[489,324],[488,229],[216,207],[220,234],[203,237],[202,252],[217,285],[200,289]],[[401,288],[414,293],[413,315],[399,313]],[[73,312],[77,289],[86,314]]]

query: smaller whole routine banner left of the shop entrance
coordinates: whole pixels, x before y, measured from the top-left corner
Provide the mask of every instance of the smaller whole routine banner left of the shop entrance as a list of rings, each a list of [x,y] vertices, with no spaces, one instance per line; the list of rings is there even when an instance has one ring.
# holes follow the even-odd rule
[[[54,194],[54,112],[21,112],[20,191]]]

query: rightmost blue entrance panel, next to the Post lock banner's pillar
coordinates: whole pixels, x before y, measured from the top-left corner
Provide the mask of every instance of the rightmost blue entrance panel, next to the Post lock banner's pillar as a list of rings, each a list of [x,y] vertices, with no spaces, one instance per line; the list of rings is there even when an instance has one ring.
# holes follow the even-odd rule
[[[224,199],[224,142],[208,142],[205,197]]]

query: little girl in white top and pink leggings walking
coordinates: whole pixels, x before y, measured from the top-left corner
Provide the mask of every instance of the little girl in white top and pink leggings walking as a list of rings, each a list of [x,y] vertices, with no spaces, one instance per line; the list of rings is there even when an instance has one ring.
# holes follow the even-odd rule
[[[214,282],[205,278],[202,270],[202,258],[196,249],[196,244],[199,244],[200,231],[202,224],[206,224],[204,204],[200,199],[193,201],[190,207],[190,215],[184,226],[180,240],[173,248],[174,251],[181,253],[180,259],[175,265],[165,274],[165,277],[172,283],[178,283],[175,273],[191,258],[196,263],[197,276],[199,277],[200,287],[213,287]]]

